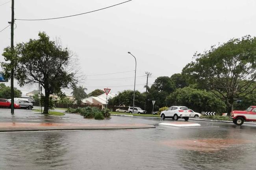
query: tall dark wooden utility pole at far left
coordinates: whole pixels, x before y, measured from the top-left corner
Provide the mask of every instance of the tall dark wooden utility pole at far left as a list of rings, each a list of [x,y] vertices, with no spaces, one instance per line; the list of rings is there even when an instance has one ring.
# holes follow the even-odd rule
[[[14,0],[11,0],[11,50],[14,50],[13,46],[13,25],[14,25]],[[14,87],[13,87],[13,58],[11,59],[11,114],[14,114]]]

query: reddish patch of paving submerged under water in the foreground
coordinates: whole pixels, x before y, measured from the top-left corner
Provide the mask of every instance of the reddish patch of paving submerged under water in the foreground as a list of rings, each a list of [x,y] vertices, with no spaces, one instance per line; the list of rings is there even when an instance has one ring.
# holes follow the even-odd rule
[[[226,147],[230,147],[237,144],[247,144],[252,143],[252,141],[245,139],[184,139],[184,140],[171,140],[171,141],[163,141],[161,144],[175,147],[186,150],[195,150],[195,151],[218,151]]]

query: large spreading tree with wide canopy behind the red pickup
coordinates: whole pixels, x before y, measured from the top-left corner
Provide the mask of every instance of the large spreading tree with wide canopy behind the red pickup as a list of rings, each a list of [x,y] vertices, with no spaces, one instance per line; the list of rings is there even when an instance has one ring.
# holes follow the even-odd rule
[[[191,75],[226,102],[228,116],[234,101],[256,89],[256,38],[233,38],[219,47],[196,53],[195,61],[187,64],[184,74]],[[251,88],[252,87],[252,88]]]

